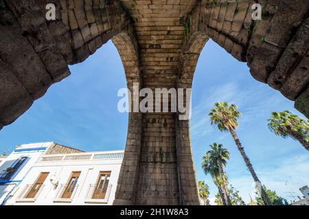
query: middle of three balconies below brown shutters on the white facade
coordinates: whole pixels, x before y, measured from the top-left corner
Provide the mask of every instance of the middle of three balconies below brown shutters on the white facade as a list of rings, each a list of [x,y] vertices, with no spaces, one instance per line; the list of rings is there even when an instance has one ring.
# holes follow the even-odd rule
[[[71,203],[78,190],[78,184],[60,184],[54,203]]]

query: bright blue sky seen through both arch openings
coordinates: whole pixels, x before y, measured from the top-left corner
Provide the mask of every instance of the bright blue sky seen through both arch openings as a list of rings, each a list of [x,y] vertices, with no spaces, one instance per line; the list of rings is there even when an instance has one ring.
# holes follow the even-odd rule
[[[70,67],[71,76],[49,88],[15,123],[0,131],[0,153],[30,142],[54,141],[84,151],[124,149],[128,114],[117,111],[120,88],[126,87],[122,62],[109,41],[82,64]],[[223,144],[231,153],[226,172],[244,201],[253,196],[253,180],[229,133],[221,133],[207,116],[216,101],[238,105],[242,117],[236,130],[253,167],[264,183],[290,199],[309,183],[309,154],[291,139],[275,136],[266,119],[273,111],[299,114],[293,101],[255,81],[245,63],[238,62],[209,40],[198,60],[192,89],[190,131],[198,180],[209,184],[211,201],[217,189],[201,169],[209,144]]]

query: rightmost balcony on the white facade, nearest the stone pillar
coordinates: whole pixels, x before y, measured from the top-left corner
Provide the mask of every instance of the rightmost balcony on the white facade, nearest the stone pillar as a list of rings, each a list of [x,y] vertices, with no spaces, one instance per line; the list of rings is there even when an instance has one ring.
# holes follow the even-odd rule
[[[90,184],[86,194],[85,203],[106,204],[108,203],[109,195],[111,194],[112,185],[100,188],[98,184]]]

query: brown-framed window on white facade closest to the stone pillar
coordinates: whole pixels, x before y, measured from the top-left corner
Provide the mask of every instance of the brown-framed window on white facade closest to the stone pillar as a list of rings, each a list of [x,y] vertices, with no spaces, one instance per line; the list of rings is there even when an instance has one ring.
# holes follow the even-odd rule
[[[93,199],[105,199],[106,191],[108,188],[109,178],[111,177],[111,172],[100,172],[98,181],[95,184],[93,190]]]

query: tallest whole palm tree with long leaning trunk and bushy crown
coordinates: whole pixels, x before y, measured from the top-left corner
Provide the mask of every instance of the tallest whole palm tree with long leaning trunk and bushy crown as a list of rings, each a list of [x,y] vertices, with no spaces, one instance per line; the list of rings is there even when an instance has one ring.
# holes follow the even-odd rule
[[[209,116],[211,120],[211,125],[216,125],[220,131],[229,131],[231,133],[231,136],[236,143],[238,151],[244,159],[244,163],[246,164],[249,172],[253,177],[253,180],[258,186],[259,192],[263,198],[265,205],[271,205],[271,202],[269,201],[266,192],[262,188],[260,179],[258,179],[258,176],[253,169],[250,159],[244,152],[244,148],[242,147],[242,144],[240,143],[240,140],[236,135],[235,129],[238,127],[237,119],[241,116],[241,113],[238,111],[237,106],[233,104],[229,105],[229,103],[227,102],[215,103],[215,107],[211,109]]]

